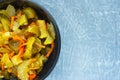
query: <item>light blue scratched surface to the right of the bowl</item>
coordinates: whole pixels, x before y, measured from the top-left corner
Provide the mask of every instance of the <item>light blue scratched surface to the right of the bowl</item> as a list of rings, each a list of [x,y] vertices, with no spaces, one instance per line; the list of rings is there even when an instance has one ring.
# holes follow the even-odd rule
[[[120,0],[34,0],[61,33],[58,63],[46,80],[120,80]]]

